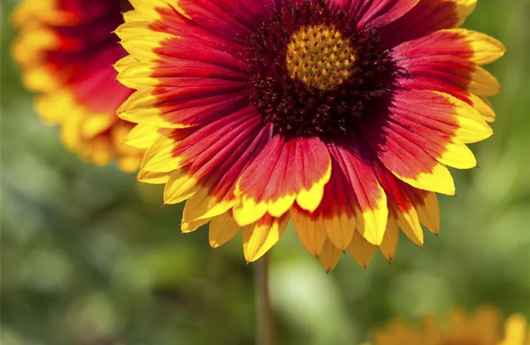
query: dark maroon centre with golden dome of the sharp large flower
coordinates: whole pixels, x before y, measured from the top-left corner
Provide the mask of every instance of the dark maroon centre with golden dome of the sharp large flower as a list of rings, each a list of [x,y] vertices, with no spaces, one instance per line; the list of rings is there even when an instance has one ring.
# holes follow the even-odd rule
[[[292,2],[246,39],[251,102],[286,137],[355,137],[389,99],[390,54],[333,1]]]

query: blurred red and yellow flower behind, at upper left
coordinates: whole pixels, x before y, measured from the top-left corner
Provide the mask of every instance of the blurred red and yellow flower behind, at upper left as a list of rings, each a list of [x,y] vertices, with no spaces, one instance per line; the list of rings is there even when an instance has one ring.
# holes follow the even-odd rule
[[[21,29],[12,54],[26,88],[39,92],[37,112],[61,124],[68,149],[134,171],[143,152],[122,144],[133,124],[116,116],[133,90],[116,81],[112,67],[126,55],[112,31],[129,9],[122,0],[24,0],[11,17]]]

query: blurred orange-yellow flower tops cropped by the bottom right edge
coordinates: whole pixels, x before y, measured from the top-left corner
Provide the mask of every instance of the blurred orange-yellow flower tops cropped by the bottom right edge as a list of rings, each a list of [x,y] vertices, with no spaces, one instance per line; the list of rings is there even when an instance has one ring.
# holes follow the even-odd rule
[[[372,345],[529,345],[527,320],[519,314],[509,317],[501,330],[498,311],[482,306],[473,315],[455,309],[446,327],[433,316],[424,318],[421,326],[401,320],[373,333]]]

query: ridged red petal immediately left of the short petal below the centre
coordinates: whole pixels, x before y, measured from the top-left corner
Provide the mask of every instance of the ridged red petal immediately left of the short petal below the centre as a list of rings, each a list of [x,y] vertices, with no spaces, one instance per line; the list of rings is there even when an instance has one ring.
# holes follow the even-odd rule
[[[178,132],[174,132],[177,138]],[[237,179],[266,145],[268,132],[251,109],[199,128],[179,141],[173,155],[181,157],[182,166],[199,186],[186,202],[184,222],[215,217],[235,205]]]

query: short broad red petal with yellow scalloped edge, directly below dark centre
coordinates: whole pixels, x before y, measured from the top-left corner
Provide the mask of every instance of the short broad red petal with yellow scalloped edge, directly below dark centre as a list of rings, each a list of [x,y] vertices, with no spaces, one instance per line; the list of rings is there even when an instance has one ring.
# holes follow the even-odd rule
[[[331,176],[326,145],[316,138],[275,135],[244,170],[235,194],[238,224],[251,224],[265,213],[279,217],[297,204],[313,212]]]

